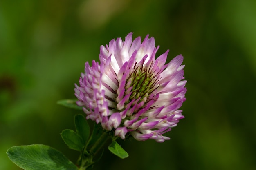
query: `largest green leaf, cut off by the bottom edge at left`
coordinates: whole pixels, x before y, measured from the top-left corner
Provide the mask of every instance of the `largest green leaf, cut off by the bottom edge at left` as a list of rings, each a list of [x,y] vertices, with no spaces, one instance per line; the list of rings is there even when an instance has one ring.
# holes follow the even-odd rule
[[[14,146],[7,155],[24,170],[78,170],[61,152],[46,145]]]

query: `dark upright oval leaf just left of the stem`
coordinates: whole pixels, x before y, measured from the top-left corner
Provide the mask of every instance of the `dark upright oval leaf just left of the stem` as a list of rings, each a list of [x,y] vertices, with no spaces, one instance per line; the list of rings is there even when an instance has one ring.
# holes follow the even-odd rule
[[[86,143],[90,136],[90,126],[83,115],[75,115],[76,133],[83,139],[83,144]]]

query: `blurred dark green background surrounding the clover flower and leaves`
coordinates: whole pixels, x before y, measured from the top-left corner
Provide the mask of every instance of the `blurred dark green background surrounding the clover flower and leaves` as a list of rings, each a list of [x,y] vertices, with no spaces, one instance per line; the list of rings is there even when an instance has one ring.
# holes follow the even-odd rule
[[[84,63],[99,47],[134,32],[184,56],[185,119],[162,144],[119,141],[98,170],[256,169],[255,0],[1,0],[0,169],[20,170],[11,146],[46,144],[76,161],[59,135],[81,113],[58,106],[74,98]]]

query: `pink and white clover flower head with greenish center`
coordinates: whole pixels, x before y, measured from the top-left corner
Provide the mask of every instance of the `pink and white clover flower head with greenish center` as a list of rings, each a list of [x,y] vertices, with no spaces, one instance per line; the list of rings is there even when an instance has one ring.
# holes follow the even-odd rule
[[[85,63],[75,95],[86,118],[116,136],[164,142],[170,138],[163,134],[184,118],[178,110],[186,100],[183,57],[165,64],[168,50],[155,58],[159,46],[148,36],[141,43],[141,37],[132,41],[129,33],[124,41],[101,46],[100,63]]]

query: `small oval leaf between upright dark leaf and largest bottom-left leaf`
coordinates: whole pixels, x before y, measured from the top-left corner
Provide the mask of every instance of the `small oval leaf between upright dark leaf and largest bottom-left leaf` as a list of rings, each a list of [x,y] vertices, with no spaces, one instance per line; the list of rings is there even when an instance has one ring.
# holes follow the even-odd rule
[[[61,132],[61,137],[70,149],[81,151],[83,149],[83,139],[73,130],[66,129]]]

